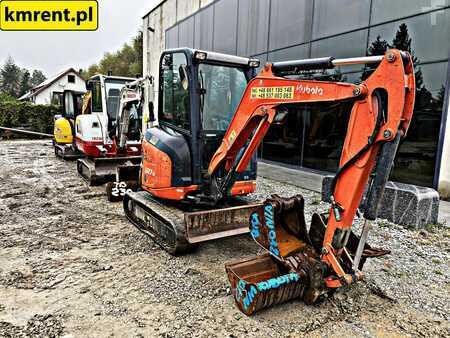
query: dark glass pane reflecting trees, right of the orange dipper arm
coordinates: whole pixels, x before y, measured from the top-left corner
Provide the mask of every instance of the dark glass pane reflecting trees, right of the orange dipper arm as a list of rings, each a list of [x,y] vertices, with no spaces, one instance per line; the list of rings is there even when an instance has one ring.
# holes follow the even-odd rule
[[[400,145],[391,179],[404,183],[433,185],[439,128],[445,95],[447,63],[416,67],[423,85],[416,92],[414,115],[406,139]],[[418,81],[420,85],[420,81]]]

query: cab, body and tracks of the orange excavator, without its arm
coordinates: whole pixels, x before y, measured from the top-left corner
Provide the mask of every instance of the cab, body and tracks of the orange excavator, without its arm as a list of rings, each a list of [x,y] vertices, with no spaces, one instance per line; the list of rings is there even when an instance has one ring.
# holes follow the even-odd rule
[[[128,192],[123,203],[130,221],[172,254],[248,232],[256,206],[239,197],[256,189],[256,155],[220,205],[208,199],[208,167],[258,66],[189,48],[161,55],[157,123],[142,141],[143,191]]]

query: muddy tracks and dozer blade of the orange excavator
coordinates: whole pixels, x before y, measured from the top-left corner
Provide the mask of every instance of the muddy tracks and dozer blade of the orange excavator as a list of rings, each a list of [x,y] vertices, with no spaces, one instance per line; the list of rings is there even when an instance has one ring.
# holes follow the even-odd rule
[[[178,255],[202,242],[248,233],[248,218],[261,205],[183,212],[139,191],[127,192],[123,206],[127,218],[140,231],[170,254]]]

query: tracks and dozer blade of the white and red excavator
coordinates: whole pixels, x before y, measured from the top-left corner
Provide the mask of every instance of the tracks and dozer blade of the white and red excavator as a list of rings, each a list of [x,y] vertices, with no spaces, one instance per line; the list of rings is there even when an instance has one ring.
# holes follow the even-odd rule
[[[77,161],[77,171],[90,186],[112,182],[116,178],[117,167],[136,165],[141,156],[82,158]]]

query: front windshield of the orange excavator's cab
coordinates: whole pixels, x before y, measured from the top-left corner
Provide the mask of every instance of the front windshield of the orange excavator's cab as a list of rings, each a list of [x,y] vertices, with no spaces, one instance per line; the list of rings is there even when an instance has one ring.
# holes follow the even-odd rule
[[[199,83],[205,89],[202,101],[204,130],[225,131],[247,87],[242,69],[200,64]]]

